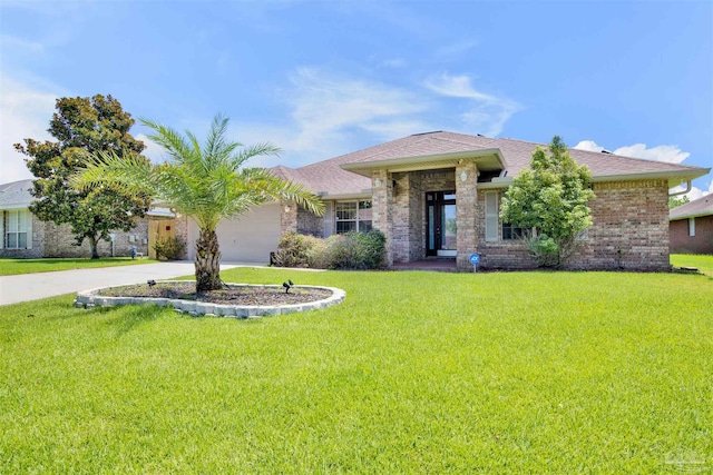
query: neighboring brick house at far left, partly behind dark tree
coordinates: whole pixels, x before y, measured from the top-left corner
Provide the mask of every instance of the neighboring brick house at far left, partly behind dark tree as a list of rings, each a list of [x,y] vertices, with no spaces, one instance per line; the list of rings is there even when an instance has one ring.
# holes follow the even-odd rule
[[[32,202],[32,180],[0,185],[0,257],[89,257],[89,243],[75,246],[69,225],[57,226],[41,221],[28,209]],[[166,229],[168,228],[168,229]],[[128,232],[117,230],[114,239],[115,256],[130,256],[131,247],[137,253],[153,255],[152,244],[159,236],[186,236],[186,220],[176,220],[166,209],[152,209],[147,217],[136,220]],[[99,256],[111,256],[111,243],[100,240]]]

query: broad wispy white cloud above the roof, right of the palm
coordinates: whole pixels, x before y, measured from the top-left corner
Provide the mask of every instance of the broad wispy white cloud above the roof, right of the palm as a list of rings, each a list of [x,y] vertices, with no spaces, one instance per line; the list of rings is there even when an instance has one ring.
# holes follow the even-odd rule
[[[299,167],[353,151],[364,133],[374,142],[432,130],[419,116],[429,101],[407,90],[332,73],[318,68],[301,68],[284,91],[291,108],[283,125],[237,125],[238,140],[245,145],[270,141],[283,149],[282,157],[256,158],[251,166],[277,162]],[[361,132],[361,133],[360,133]]]

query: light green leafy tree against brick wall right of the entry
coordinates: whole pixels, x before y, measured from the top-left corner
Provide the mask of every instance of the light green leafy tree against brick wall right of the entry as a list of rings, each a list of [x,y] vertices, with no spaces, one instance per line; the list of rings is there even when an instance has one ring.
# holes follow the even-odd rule
[[[534,230],[525,240],[539,265],[560,267],[592,226],[587,202],[594,191],[589,169],[577,166],[561,138],[553,138],[548,149],[537,147],[530,169],[515,177],[502,197],[500,218]]]

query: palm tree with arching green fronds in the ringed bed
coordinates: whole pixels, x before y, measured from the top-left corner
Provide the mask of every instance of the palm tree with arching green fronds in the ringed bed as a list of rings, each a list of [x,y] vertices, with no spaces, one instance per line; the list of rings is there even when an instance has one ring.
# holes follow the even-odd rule
[[[268,200],[295,201],[321,216],[324,205],[302,186],[282,180],[265,168],[242,168],[251,157],[277,155],[265,142],[243,147],[225,137],[228,119],[217,115],[201,146],[189,131],[185,137],[150,120],[148,138],[168,152],[163,164],[140,160],[138,155],[118,157],[99,152],[72,177],[78,188],[120,186],[146,192],[155,202],[193,218],[199,228],[196,241],[196,291],[219,289],[221,251],[215,229],[223,219],[234,218]]]

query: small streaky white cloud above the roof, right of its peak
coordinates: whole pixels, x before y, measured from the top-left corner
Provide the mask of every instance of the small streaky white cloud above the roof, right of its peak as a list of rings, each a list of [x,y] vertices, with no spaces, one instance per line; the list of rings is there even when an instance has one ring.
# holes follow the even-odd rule
[[[469,129],[495,137],[502,131],[505,122],[522,107],[506,97],[497,97],[476,90],[468,76],[450,76],[447,73],[430,78],[424,86],[441,96],[470,99],[470,110],[460,115]]]

